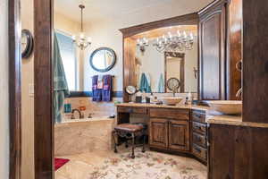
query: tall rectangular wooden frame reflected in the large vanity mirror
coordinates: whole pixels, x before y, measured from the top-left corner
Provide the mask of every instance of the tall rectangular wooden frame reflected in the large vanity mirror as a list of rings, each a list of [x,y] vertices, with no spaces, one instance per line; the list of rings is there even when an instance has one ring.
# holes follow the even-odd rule
[[[184,61],[185,61],[185,54],[184,53],[179,53],[179,52],[164,52],[164,84],[166,84],[166,82],[168,81],[167,77],[167,57],[171,56],[171,57],[177,57],[180,58],[180,79],[178,79],[180,81],[180,93],[185,92],[184,91],[184,86],[185,86],[185,74],[184,74]],[[167,85],[164,85],[164,92],[167,92]]]

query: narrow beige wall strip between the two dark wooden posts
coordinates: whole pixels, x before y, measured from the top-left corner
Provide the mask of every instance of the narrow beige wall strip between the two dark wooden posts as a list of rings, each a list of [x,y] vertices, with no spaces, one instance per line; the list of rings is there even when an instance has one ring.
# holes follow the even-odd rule
[[[33,0],[21,0],[21,28],[33,33]],[[34,35],[34,34],[33,34]],[[21,179],[34,178],[34,98],[29,86],[34,83],[34,56],[22,59],[21,66]]]

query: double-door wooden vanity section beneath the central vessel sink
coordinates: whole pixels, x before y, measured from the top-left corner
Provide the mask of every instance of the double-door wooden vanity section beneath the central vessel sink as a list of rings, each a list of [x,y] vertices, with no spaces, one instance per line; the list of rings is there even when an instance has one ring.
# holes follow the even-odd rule
[[[151,108],[149,111],[150,147],[189,151],[189,110]]]

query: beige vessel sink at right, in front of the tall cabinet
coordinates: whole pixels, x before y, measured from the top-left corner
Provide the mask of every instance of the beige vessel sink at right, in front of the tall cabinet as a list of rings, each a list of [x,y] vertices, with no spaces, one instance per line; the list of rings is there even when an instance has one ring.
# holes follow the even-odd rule
[[[206,101],[209,107],[223,115],[240,115],[242,113],[242,101],[240,100],[214,100]]]

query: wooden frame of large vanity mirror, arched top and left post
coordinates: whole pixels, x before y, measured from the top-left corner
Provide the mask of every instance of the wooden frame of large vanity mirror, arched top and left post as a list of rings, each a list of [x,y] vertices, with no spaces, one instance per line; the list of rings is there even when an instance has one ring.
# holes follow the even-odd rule
[[[126,87],[136,86],[137,84],[136,73],[133,70],[135,66],[135,52],[137,42],[136,39],[131,37],[148,30],[155,30],[171,26],[179,26],[179,25],[198,26],[199,21],[198,19],[199,18],[197,13],[189,13],[186,15],[181,15],[170,19],[165,19],[162,21],[153,21],[120,30],[123,35],[122,41],[123,41],[123,101],[124,102],[130,101],[130,97],[128,93],[125,91]]]

